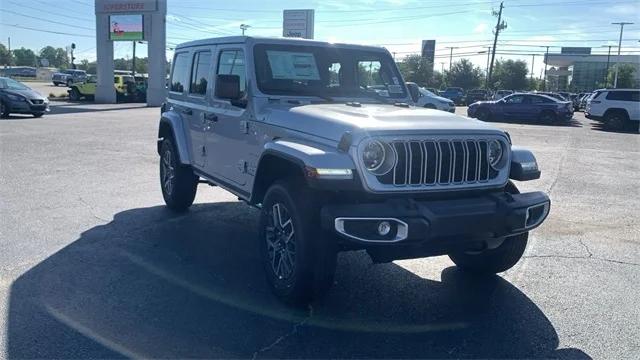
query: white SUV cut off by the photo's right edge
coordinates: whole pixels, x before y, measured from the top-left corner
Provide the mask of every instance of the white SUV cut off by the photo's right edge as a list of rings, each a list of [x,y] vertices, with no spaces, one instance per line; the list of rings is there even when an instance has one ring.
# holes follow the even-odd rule
[[[617,130],[637,131],[640,124],[640,89],[600,89],[587,100],[587,119]]]

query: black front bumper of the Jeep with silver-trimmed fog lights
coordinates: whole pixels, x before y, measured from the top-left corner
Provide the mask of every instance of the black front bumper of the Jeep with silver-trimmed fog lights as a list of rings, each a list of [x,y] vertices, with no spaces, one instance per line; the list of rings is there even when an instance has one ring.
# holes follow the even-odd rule
[[[492,242],[538,227],[551,202],[542,192],[493,193],[479,197],[417,201],[393,199],[381,203],[327,205],[323,229],[359,248],[415,248],[402,257],[446,254],[460,248],[491,246]],[[386,221],[390,231],[381,235]],[[422,254],[420,251],[426,253]]]

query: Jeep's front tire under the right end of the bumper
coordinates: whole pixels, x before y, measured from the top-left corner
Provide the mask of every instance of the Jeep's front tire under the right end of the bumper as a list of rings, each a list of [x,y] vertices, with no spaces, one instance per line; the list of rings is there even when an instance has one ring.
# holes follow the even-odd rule
[[[505,191],[517,194],[518,189],[509,182]],[[474,274],[497,274],[511,269],[524,254],[527,248],[529,233],[508,237],[495,249],[482,252],[459,252],[449,254],[456,266]]]

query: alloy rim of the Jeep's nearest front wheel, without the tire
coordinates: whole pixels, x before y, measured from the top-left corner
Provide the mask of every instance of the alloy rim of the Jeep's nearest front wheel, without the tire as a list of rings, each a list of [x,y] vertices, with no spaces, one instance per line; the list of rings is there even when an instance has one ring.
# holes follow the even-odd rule
[[[282,203],[268,210],[267,254],[271,270],[279,280],[289,280],[295,272],[295,230],[291,215]]]

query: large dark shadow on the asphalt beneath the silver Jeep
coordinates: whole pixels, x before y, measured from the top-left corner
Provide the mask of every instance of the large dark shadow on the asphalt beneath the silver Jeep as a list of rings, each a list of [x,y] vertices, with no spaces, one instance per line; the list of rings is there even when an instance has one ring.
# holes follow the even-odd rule
[[[14,281],[9,358],[589,358],[499,276],[342,254],[309,309],[267,289],[242,203],[118,213]],[[428,261],[428,260],[425,260]]]

